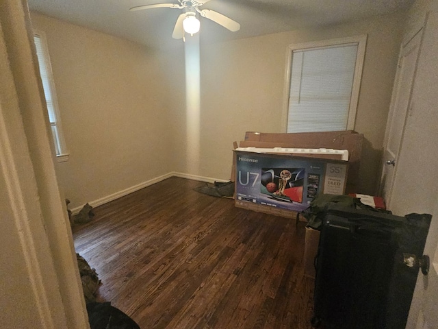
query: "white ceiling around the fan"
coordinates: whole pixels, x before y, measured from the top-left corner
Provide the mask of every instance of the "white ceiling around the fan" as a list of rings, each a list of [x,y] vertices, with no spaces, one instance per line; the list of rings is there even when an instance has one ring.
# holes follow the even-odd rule
[[[198,0],[202,2],[202,0]],[[201,18],[201,41],[248,38],[300,28],[344,23],[409,8],[414,0],[211,0],[201,9],[220,12],[241,25],[238,32]],[[63,21],[127,38],[149,47],[172,47],[181,10],[154,8],[130,12],[136,5],[177,0],[28,0],[29,9]]]

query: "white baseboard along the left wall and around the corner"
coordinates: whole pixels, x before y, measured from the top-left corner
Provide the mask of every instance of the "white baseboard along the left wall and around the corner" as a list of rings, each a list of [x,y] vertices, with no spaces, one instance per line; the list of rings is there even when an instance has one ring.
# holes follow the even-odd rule
[[[142,188],[145,188],[147,186],[151,186],[153,184],[156,184],[158,182],[162,182],[163,180],[167,180],[171,177],[179,177],[179,178],[185,178],[188,180],[198,180],[200,182],[207,182],[207,183],[214,183],[214,182],[228,182],[227,180],[219,180],[216,178],[210,178],[205,176],[198,176],[198,175],[191,175],[189,173],[177,173],[175,171],[171,171],[170,173],[166,173],[166,175],[159,176],[157,178],[153,178],[151,180],[147,180],[146,182],[142,182],[140,184],[131,186],[129,188],[125,188],[122,191],[118,191],[116,193],[113,193],[111,195],[107,195],[106,197],[101,197],[100,199],[96,199],[94,201],[88,202],[90,206],[97,207],[101,206],[102,204],[106,204],[107,202],[113,201],[115,199],[118,199],[119,197],[124,197],[125,195],[128,195],[130,193],[136,192],[138,190],[141,190]],[[83,208],[83,206],[75,207],[73,209],[70,209],[73,215],[77,215],[77,213]]]

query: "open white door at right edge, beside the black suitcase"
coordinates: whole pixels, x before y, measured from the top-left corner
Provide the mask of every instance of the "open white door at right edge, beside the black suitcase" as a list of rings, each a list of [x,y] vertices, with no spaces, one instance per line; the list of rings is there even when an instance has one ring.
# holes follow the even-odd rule
[[[438,0],[427,2],[428,18],[391,192],[396,215],[433,215],[424,250],[432,264],[428,276],[420,273],[417,278],[407,329],[438,328]]]

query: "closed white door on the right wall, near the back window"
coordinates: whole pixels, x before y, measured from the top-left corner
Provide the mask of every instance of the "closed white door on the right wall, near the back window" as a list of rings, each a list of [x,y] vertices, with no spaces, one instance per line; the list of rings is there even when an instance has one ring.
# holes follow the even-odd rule
[[[381,178],[381,195],[388,208],[391,207],[391,191],[394,173],[397,170],[397,157],[402,143],[404,124],[411,103],[411,92],[417,59],[422,40],[423,28],[407,42],[400,51],[396,81],[394,83],[391,110],[387,125],[386,145],[383,151],[383,170]]]

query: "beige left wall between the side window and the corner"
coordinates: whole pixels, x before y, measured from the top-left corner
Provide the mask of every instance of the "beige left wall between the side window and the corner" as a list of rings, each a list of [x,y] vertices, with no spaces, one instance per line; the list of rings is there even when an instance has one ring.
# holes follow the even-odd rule
[[[157,53],[47,16],[31,19],[47,36],[70,153],[58,179],[70,207],[170,172],[169,93]]]

